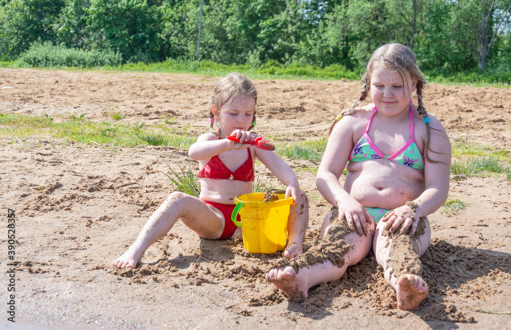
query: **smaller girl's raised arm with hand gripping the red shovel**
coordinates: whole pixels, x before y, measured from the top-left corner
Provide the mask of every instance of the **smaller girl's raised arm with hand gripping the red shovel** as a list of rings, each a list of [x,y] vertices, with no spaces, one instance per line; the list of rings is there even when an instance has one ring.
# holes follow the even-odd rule
[[[235,135],[235,132],[233,132],[233,135]],[[206,133],[199,136],[197,142],[190,146],[188,155],[193,160],[204,160],[228,150],[240,150],[250,147],[249,144],[234,142],[226,138],[219,140],[212,133]]]

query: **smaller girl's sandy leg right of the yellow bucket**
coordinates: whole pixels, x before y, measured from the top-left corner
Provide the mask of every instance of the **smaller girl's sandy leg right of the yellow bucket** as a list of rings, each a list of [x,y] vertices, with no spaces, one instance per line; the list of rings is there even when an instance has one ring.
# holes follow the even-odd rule
[[[301,192],[301,203],[297,207],[291,206],[288,220],[289,242],[282,256],[288,259],[296,259],[304,253],[304,238],[309,224],[309,200],[304,192]]]

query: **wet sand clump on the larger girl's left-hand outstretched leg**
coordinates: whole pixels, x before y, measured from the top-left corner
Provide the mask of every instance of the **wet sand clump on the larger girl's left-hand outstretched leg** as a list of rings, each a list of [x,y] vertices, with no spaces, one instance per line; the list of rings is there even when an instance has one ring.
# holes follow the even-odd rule
[[[288,260],[279,258],[270,263],[270,269],[275,267],[284,267],[290,265],[299,272],[300,268],[324,263],[330,260],[337,267],[344,266],[344,255],[350,251],[351,245],[344,242],[347,234],[353,232],[346,221],[339,220],[339,211],[337,207],[332,207],[330,216],[330,228],[324,235],[319,245],[311,247],[307,252],[301,254],[298,260]]]

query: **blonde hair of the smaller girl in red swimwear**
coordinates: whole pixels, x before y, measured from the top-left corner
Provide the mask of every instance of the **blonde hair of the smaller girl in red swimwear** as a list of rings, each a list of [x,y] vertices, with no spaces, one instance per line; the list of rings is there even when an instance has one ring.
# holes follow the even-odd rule
[[[251,97],[254,99],[254,114],[252,117],[252,124],[248,128],[248,130],[251,130],[255,126],[255,114],[257,114],[257,90],[255,90],[255,86],[252,83],[250,79],[247,77],[238,74],[238,73],[232,73],[227,75],[226,77],[220,79],[215,86],[215,92],[213,93],[213,96],[210,99],[210,102],[208,104],[210,109],[210,131],[220,136],[220,134],[213,130],[213,122],[215,115],[213,114],[213,111],[211,110],[212,106],[215,106],[217,108],[217,113],[220,113],[220,110],[222,109],[222,106],[231,99],[234,99],[235,97],[242,96],[242,97]]]

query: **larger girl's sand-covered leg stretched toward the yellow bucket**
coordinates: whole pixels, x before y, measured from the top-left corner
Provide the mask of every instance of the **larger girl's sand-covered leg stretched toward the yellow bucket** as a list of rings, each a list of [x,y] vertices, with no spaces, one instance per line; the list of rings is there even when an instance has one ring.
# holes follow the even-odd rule
[[[297,260],[280,258],[266,274],[290,298],[307,298],[310,288],[339,279],[349,266],[360,262],[371,250],[374,225],[369,226],[367,236],[359,236],[344,219],[339,220],[336,208],[324,221],[326,230],[318,246],[311,247]]]

